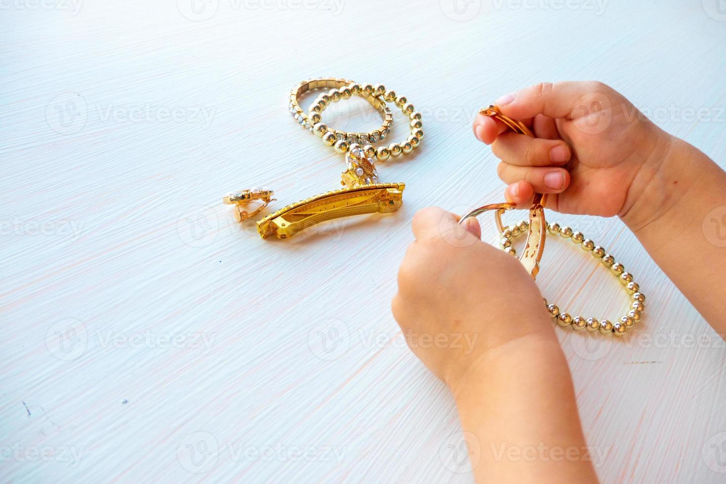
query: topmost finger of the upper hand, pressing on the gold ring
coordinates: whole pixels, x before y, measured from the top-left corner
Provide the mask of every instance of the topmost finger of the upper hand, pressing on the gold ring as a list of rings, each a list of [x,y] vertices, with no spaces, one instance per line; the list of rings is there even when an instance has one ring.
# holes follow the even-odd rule
[[[607,104],[612,90],[599,82],[539,83],[497,100],[502,114],[514,119],[538,114],[555,119],[576,119],[590,114],[590,107]]]

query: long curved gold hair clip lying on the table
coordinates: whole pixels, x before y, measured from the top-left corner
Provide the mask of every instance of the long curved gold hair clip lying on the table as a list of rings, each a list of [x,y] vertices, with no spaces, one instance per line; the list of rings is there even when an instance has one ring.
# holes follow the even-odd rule
[[[364,213],[395,212],[403,203],[402,183],[383,183],[343,188],[295,202],[257,222],[260,237],[293,237],[299,231],[333,218]]]

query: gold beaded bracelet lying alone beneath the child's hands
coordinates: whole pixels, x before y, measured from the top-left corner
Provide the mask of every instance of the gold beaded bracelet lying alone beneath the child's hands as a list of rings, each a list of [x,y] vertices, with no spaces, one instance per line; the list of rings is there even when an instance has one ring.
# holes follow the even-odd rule
[[[505,227],[501,231],[502,240],[499,241],[499,245],[507,253],[516,255],[516,251],[512,247],[512,241],[526,230],[527,225],[528,223],[526,221],[521,221],[513,226]],[[573,318],[569,313],[560,311],[557,305],[547,303],[545,299],[544,305],[547,307],[547,312],[557,321],[557,324],[562,327],[571,326],[576,331],[587,329],[587,331],[599,331],[605,335],[613,333],[613,335],[622,336],[637,321],[640,321],[640,318],[643,317],[643,312],[645,312],[645,295],[643,292],[640,292],[640,285],[633,280],[632,274],[625,272],[625,268],[621,263],[616,263],[615,258],[605,253],[603,247],[595,245],[590,239],[585,239],[582,232],[574,232],[568,226],[560,227],[559,223],[552,223],[552,225],[547,223],[547,231],[552,235],[559,235],[563,239],[570,239],[574,244],[582,247],[582,250],[591,253],[592,257],[596,260],[600,260],[603,266],[607,267],[609,272],[616,276],[621,284],[624,285],[626,292],[631,296],[633,301],[627,313],[613,323],[608,321],[608,319],[597,321],[595,318],[584,319],[581,316],[575,316]]]

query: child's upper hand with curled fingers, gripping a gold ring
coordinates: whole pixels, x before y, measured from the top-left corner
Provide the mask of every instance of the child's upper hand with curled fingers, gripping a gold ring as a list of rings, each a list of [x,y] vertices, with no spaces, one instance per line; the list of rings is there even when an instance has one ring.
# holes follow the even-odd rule
[[[549,193],[547,208],[559,212],[624,216],[649,181],[637,174],[654,173],[672,140],[598,82],[541,83],[507,94],[497,105],[537,136],[515,134],[485,115],[474,121],[476,137],[493,143],[502,159],[497,172],[510,184],[505,197],[517,205],[526,205],[534,192]]]

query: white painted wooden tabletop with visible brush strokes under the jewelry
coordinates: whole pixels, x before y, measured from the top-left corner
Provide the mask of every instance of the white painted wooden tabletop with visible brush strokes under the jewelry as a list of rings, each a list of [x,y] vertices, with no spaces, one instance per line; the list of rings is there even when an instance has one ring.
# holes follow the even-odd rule
[[[470,133],[478,107],[598,79],[726,159],[716,1],[0,4],[3,482],[469,483],[446,446],[452,398],[389,303],[417,210],[501,197]],[[417,155],[379,168],[407,183],[404,207],[263,242],[221,196],[270,186],[281,208],[338,186],[340,157],[286,108],[324,75],[385,83],[423,112]],[[359,99],[325,114],[378,123]],[[550,220],[648,295],[624,341],[558,330],[603,482],[726,480],[722,341],[618,220]],[[538,282],[574,312],[627,302],[561,243]]]

